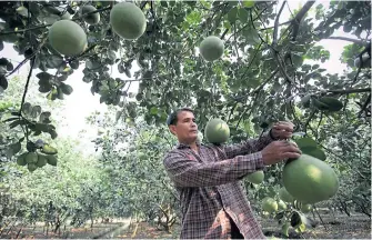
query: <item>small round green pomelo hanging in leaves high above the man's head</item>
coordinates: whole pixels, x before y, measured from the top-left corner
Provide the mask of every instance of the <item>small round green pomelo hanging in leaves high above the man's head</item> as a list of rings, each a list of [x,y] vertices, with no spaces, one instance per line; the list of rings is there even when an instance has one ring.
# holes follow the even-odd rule
[[[214,61],[222,57],[224,51],[224,44],[219,37],[210,36],[200,43],[199,49],[200,54],[203,57],[204,60]]]

